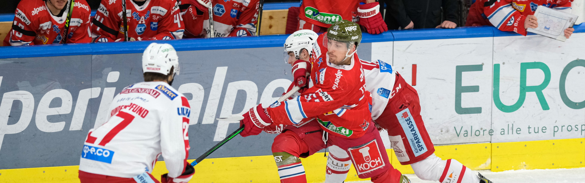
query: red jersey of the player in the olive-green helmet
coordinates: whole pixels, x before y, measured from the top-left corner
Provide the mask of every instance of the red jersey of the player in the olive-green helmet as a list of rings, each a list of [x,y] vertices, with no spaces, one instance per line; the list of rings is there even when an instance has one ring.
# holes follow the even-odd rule
[[[318,42],[322,42],[324,35],[319,35]],[[287,125],[314,117],[328,133],[345,138],[362,137],[371,121],[371,97],[365,89],[357,53],[353,54],[350,65],[338,66],[329,62],[324,46],[318,51],[324,54],[314,54],[309,59],[313,86],[292,100],[272,104],[267,108],[270,117],[274,123]]]

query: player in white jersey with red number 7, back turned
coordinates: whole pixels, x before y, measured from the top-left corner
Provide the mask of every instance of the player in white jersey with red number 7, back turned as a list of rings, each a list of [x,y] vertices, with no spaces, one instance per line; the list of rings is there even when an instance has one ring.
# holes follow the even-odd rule
[[[79,166],[81,183],[159,182],[151,173],[163,155],[168,174],[161,182],[188,182],[187,98],[171,83],[179,73],[173,46],[151,43],[142,56],[144,82],[114,97],[105,124],[90,130]]]

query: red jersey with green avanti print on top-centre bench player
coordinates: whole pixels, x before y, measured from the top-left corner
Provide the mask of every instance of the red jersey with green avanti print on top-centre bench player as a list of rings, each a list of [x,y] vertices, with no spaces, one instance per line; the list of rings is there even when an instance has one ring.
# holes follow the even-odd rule
[[[357,5],[364,0],[304,0],[298,17],[314,25],[329,28],[331,24],[348,20],[357,22]]]

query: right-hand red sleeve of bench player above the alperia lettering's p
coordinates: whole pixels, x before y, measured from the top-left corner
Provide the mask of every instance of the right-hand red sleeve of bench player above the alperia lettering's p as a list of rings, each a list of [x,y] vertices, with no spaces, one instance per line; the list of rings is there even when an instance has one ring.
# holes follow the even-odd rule
[[[256,35],[256,24],[258,23],[258,9],[260,2],[252,0],[246,9],[242,8],[242,14],[236,22],[236,26],[228,36],[254,36]]]

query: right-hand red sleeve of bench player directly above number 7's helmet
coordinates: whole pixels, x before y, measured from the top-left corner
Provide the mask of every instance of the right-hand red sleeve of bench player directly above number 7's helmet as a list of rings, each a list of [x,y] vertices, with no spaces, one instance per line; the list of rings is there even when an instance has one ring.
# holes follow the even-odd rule
[[[161,17],[157,34],[149,39],[182,39],[183,33],[185,32],[185,24],[183,23],[183,17],[181,17],[179,4],[177,3],[177,0],[166,0],[164,2],[166,5],[164,8],[171,9],[171,11]]]

